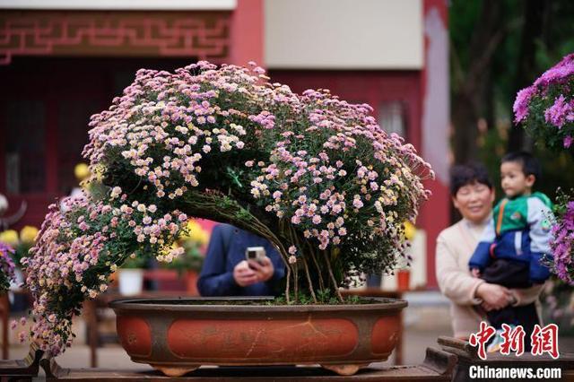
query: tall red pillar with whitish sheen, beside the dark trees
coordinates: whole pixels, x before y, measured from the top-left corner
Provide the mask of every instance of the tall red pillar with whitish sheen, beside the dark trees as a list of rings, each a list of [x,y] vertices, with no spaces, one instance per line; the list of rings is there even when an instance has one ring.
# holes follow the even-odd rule
[[[427,286],[434,289],[437,287],[436,239],[440,231],[450,223],[447,0],[424,0],[422,11],[424,66],[421,74],[421,153],[422,157],[431,163],[436,173],[436,180],[425,182],[425,186],[431,189],[432,195],[430,200],[423,204],[420,221],[427,233]]]

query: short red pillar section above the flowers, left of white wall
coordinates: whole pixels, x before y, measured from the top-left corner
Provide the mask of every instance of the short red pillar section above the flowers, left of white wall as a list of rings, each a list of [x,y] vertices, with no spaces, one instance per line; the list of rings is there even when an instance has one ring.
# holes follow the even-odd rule
[[[264,2],[263,0],[238,0],[231,18],[230,64],[247,65],[264,62]]]

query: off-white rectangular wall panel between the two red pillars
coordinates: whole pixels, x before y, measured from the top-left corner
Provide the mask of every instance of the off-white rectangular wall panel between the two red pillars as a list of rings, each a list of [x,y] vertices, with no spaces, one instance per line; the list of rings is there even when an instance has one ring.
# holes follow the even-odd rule
[[[421,69],[422,0],[265,0],[270,69]]]

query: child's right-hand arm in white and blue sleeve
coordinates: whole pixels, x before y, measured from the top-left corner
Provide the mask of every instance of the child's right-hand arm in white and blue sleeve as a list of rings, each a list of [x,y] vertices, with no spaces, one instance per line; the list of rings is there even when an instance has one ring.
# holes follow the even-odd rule
[[[541,263],[544,255],[550,256],[550,223],[551,209],[537,197],[528,198],[527,222],[530,227],[530,281],[544,283],[550,277],[550,269]]]

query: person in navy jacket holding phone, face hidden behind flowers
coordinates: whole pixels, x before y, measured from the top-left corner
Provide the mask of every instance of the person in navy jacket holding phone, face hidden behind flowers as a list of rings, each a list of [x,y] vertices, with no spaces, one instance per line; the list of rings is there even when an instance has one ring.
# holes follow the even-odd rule
[[[197,289],[202,296],[274,296],[285,275],[266,239],[229,224],[213,227]]]

